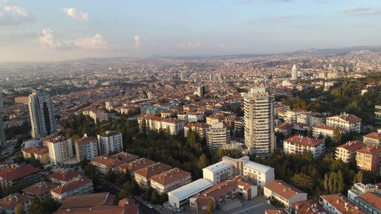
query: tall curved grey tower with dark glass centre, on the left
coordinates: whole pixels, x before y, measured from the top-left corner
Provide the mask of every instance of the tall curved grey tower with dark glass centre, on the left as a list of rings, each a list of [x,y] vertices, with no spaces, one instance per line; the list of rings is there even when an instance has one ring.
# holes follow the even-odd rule
[[[33,90],[29,95],[28,104],[32,137],[42,138],[56,134],[56,121],[50,94],[42,89]]]

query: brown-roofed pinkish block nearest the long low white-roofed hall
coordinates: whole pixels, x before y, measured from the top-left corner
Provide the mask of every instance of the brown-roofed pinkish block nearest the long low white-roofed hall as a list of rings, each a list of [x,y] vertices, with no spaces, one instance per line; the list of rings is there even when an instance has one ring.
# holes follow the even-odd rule
[[[167,193],[192,182],[190,172],[172,168],[151,177],[151,187],[159,194]]]

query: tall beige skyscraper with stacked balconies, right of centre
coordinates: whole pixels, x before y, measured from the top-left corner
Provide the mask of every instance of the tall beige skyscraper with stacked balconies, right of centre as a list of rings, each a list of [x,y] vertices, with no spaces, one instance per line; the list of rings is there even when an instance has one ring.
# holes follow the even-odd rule
[[[245,95],[245,144],[250,154],[275,150],[273,102],[265,88],[251,88]]]

